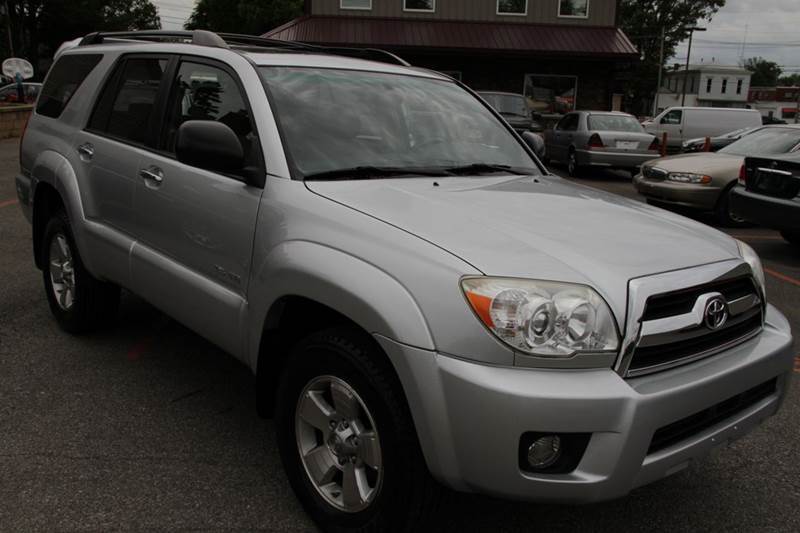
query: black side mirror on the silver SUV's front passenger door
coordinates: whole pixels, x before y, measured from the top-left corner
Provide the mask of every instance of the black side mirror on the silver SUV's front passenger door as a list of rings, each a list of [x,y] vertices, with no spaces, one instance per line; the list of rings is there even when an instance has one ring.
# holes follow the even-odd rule
[[[216,172],[239,172],[244,167],[244,148],[233,130],[214,120],[187,120],[178,128],[175,142],[178,161]]]

